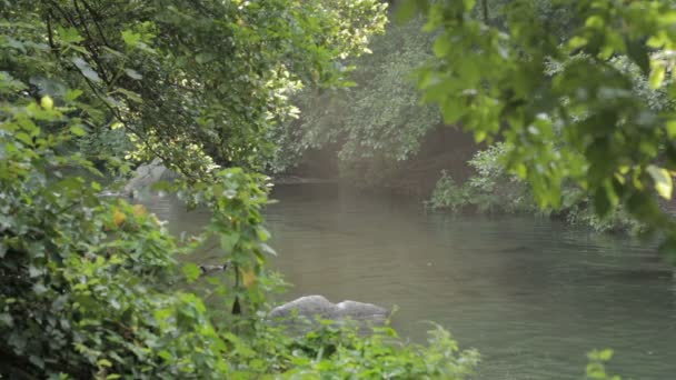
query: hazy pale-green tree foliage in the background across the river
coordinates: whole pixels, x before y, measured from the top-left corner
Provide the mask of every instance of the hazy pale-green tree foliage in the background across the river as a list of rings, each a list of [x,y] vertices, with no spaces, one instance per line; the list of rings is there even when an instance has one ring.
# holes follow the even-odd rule
[[[420,106],[410,73],[431,57],[431,38],[422,21],[390,24],[374,38],[372,53],[351,60],[355,87],[338,91],[307,88],[297,97],[300,114],[275,132],[282,149],[275,171],[292,167],[310,148],[338,143],[346,174],[381,172],[415,154],[426,133],[440,122],[436,107]],[[374,170],[362,168],[372,166]],[[357,176],[360,179],[367,174]]]

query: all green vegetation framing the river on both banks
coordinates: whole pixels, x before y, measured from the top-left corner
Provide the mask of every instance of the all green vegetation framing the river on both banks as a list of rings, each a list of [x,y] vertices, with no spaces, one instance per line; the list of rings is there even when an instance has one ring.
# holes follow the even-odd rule
[[[433,203],[622,208],[676,244],[657,203],[676,170],[670,1],[404,1],[412,21],[368,56],[387,21],[376,0],[0,4],[0,373],[466,378],[477,354],[443,329],[421,347],[388,328],[291,337],[261,320],[280,281],[255,171],[327,142],[372,173],[359,162],[406,160],[441,121],[460,124],[501,142],[466,184],[443,177]],[[155,158],[181,174],[165,189],[212,211],[200,234],[101,197]],[[178,256],[210,239],[232,268],[202,279],[219,310],[181,290],[200,269]],[[606,378],[609,357],[588,374]]]

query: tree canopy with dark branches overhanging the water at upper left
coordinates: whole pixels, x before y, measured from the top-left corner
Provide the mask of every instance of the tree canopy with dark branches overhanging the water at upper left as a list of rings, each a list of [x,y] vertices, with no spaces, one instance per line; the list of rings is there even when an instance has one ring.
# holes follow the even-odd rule
[[[67,87],[83,91],[93,136],[119,126],[183,174],[195,172],[182,170],[191,144],[220,164],[258,168],[290,89],[345,83],[335,63],[366,50],[384,11],[376,0],[14,1],[1,10],[1,61],[57,102]],[[49,59],[36,62],[36,50]]]

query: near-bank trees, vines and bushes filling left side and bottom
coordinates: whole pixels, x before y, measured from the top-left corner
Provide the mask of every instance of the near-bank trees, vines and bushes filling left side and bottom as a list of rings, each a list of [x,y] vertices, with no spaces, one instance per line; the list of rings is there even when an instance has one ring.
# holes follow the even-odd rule
[[[476,353],[444,330],[401,346],[264,322],[267,131],[301,83],[341,86],[341,59],[382,29],[376,1],[12,1],[0,8],[0,373],[10,378],[464,378]],[[212,217],[178,239],[103,184],[161,158]],[[208,239],[231,270],[212,310],[178,260]],[[180,263],[179,263],[180,262]]]

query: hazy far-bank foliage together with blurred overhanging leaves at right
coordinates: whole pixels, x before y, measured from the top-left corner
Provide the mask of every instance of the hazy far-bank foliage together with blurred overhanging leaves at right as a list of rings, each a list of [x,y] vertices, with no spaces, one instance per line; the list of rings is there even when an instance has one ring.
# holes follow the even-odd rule
[[[673,148],[665,143],[674,109],[664,16],[669,2],[401,7],[402,13],[425,13],[427,23],[416,19],[376,38],[375,56],[388,59],[355,60],[358,87],[299,94],[300,119],[285,124],[285,146],[295,157],[338,142],[342,174],[377,187],[394,172],[387,168],[415,159],[443,118],[473,131],[477,142],[501,142],[469,160],[475,174],[465,183],[445,173],[429,206],[544,209],[596,230],[670,234],[670,218],[657,201],[672,192]],[[644,7],[649,11],[638,16]],[[424,30],[416,22],[425,23]],[[618,27],[625,23],[632,27]],[[424,90],[422,104],[408,91],[411,71]],[[387,101],[374,93],[387,93]],[[359,112],[365,100],[367,113]]]

